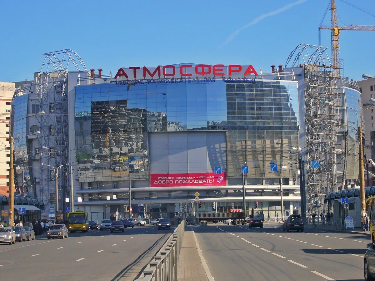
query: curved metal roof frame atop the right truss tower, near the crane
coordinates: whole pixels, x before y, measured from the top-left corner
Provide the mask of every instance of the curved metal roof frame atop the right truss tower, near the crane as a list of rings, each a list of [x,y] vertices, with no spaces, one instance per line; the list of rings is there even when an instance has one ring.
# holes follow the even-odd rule
[[[296,67],[302,58],[303,64],[321,63],[331,65],[331,60],[327,54],[328,47],[300,44],[289,54],[285,67]],[[293,63],[291,61],[293,60]],[[291,65],[288,65],[291,63]]]

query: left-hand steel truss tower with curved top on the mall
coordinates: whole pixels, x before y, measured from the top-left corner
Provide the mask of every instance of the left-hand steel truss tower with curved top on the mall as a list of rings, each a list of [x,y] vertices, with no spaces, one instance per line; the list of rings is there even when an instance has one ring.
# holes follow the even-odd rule
[[[39,126],[40,148],[40,198],[46,209],[53,206],[54,196],[58,196],[59,210],[69,197],[69,188],[62,194],[62,187],[69,186],[69,141],[68,141],[68,67],[72,65],[77,71],[86,71],[80,56],[71,49],[49,52],[45,56],[36,84],[36,99],[39,111],[44,115],[36,116]],[[50,149],[42,149],[45,146]],[[55,194],[53,169],[61,167],[58,175],[58,194]]]

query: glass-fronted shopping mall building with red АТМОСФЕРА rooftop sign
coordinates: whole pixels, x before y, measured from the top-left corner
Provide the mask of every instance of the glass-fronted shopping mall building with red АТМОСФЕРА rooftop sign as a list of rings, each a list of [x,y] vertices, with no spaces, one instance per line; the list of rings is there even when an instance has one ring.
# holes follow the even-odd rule
[[[12,103],[16,186],[24,182],[26,196],[43,200],[42,217],[54,206],[55,171],[59,209],[70,206],[64,199],[72,181],[75,210],[87,211],[92,220],[116,211],[127,215],[129,182],[135,216],[192,212],[196,191],[201,212],[241,209],[241,166],[248,166],[248,210],[281,216],[281,180],[285,215],[300,213],[299,156],[305,160],[308,210],[317,201],[323,208],[326,192],[357,184],[357,136],[344,125],[357,122],[359,89],[334,79],[328,103],[311,103],[313,78],[307,76],[330,70],[321,61],[300,63],[303,52],[295,56],[298,63],[267,71],[249,62],[183,63],[119,65],[109,74],[87,70],[69,49],[45,56],[57,60],[62,54],[74,61],[69,67],[75,71],[54,68],[63,59],[43,63]],[[355,111],[329,103],[350,104]],[[313,170],[311,160],[320,166]]]

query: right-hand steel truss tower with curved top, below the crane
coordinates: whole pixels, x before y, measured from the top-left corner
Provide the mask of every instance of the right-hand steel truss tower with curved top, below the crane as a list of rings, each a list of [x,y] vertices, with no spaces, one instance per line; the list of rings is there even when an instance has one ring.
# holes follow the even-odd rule
[[[341,105],[344,88],[341,79],[335,78],[327,47],[300,44],[287,60],[291,67],[303,67],[305,103],[306,150],[306,203],[310,212],[319,210],[324,205],[327,192],[338,191],[338,167],[344,167],[341,161],[346,157],[337,158],[338,135],[340,120],[339,107],[324,103],[331,102]],[[293,62],[292,62],[293,60]],[[301,101],[300,101],[301,102]],[[341,139],[341,138],[340,138]],[[303,147],[303,142],[301,142]],[[341,146],[340,146],[341,147]],[[320,167],[313,168],[311,161],[320,161]],[[345,163],[344,163],[345,164]],[[345,171],[342,171],[342,176]]]

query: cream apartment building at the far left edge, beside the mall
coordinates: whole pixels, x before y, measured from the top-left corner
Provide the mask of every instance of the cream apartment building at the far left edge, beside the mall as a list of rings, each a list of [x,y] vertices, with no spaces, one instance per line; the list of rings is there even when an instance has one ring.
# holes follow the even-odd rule
[[[9,193],[9,119],[15,84],[0,82],[0,194]]]

